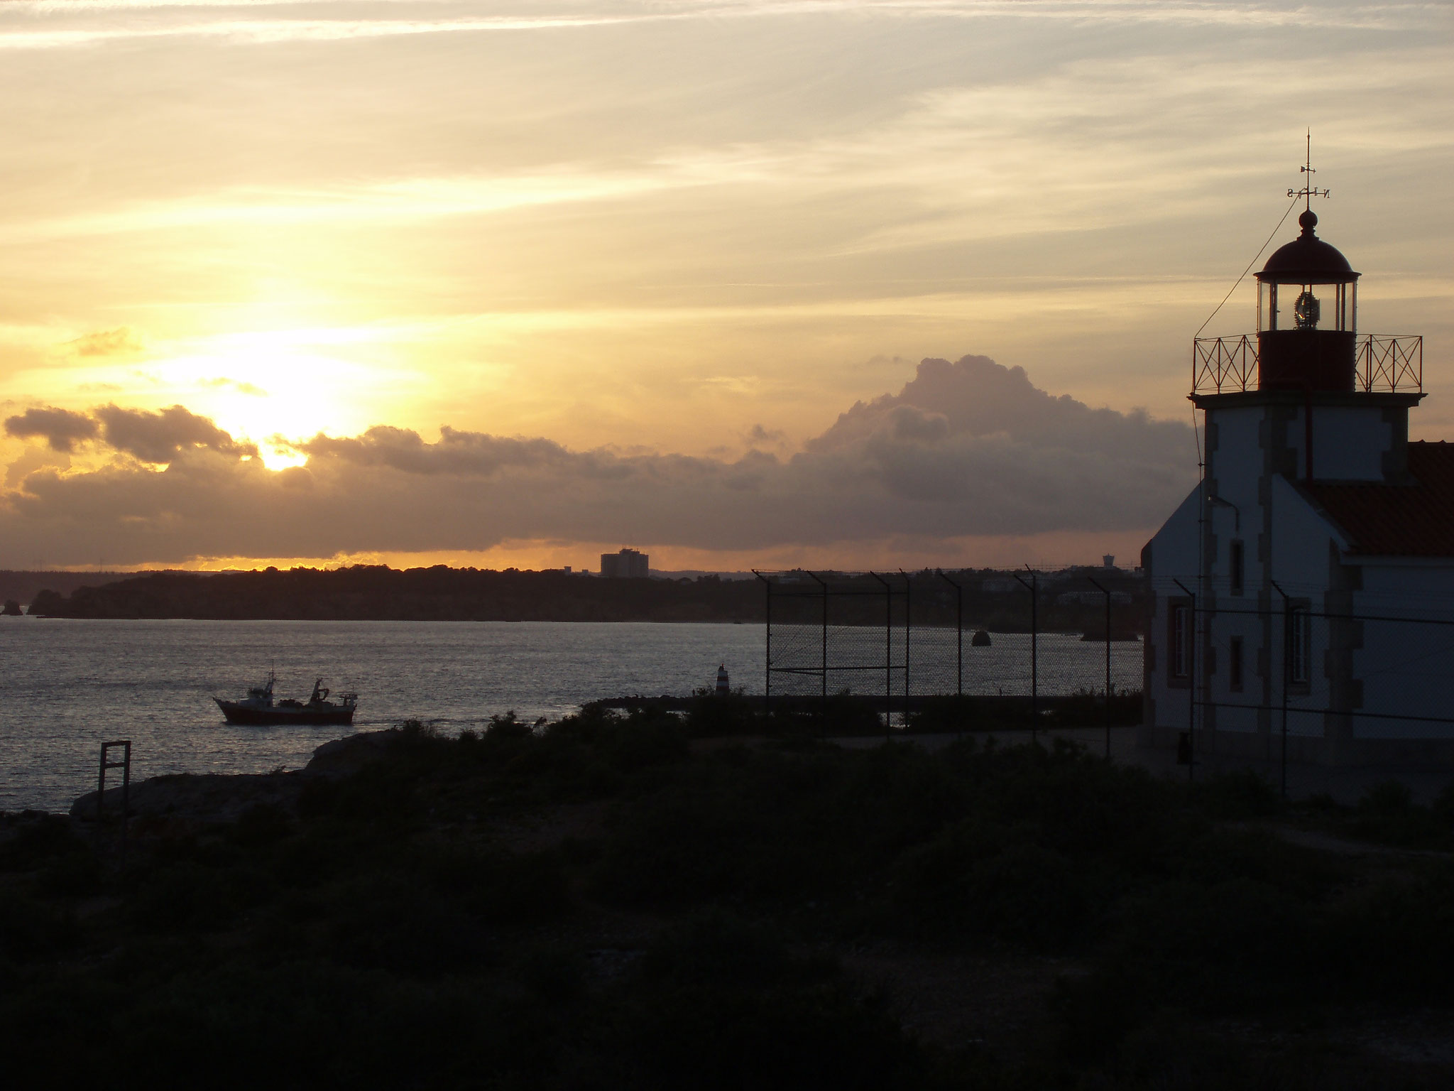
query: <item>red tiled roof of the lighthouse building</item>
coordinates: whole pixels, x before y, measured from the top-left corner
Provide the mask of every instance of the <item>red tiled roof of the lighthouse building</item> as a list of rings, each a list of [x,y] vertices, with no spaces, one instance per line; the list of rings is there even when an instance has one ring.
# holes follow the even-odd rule
[[[1454,444],[1409,444],[1409,484],[1306,486],[1351,538],[1377,557],[1454,557]]]

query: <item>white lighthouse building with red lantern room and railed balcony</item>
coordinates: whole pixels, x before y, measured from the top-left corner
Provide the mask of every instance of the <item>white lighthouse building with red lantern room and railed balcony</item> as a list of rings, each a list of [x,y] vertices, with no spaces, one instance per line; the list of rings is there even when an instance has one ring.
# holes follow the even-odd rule
[[[1141,742],[1450,761],[1454,445],[1409,442],[1422,337],[1359,333],[1359,275],[1298,223],[1256,335],[1195,342],[1204,471],[1141,554]]]

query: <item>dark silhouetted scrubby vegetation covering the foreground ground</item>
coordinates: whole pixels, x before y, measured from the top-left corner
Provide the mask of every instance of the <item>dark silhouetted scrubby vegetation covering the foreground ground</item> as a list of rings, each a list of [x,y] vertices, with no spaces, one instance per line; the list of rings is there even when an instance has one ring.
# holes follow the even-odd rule
[[[1288,810],[1250,774],[1188,786],[1066,743],[852,751],[784,726],[744,745],[733,707],[410,723],[297,810],[137,818],[125,867],[113,829],[7,816],[9,1078],[1447,1084],[1345,1031],[1454,1004],[1454,863],[1277,831],[1448,844],[1448,793]],[[955,988],[983,996],[957,1002],[989,1031],[906,1026],[931,986],[904,975],[945,960],[968,960]],[[996,1023],[1025,966],[1028,1014]]]

